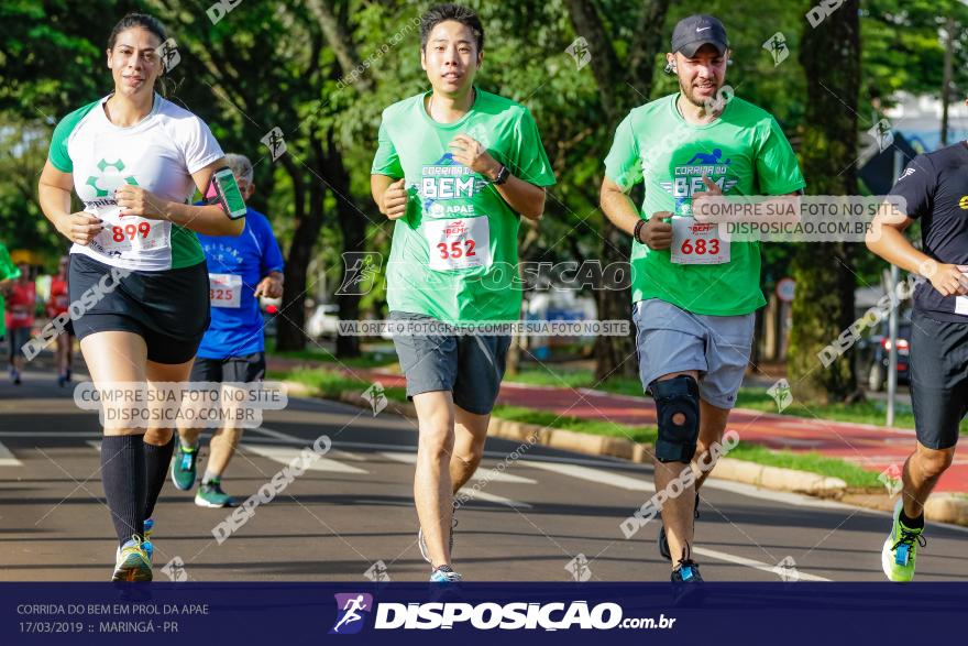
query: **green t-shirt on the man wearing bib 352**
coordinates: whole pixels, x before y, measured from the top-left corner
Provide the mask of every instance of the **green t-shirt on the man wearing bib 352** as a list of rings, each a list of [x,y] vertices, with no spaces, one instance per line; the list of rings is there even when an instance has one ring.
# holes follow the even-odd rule
[[[453,161],[458,134],[479,141],[516,177],[554,184],[531,113],[509,99],[476,90],[471,110],[453,123],[433,121],[426,94],[383,112],[371,173],[406,179],[410,201],[394,227],[387,266],[392,311],[446,322],[517,320],[520,216],[482,175]]]

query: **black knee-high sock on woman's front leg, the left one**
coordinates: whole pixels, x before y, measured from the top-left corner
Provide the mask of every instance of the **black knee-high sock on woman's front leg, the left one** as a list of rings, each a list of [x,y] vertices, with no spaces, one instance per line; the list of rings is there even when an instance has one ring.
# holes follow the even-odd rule
[[[144,439],[108,435],[101,441],[101,482],[121,545],[144,536]]]

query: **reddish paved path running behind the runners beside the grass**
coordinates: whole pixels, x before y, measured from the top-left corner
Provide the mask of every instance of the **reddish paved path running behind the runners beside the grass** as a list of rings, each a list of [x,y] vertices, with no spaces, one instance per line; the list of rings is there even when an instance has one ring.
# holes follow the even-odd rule
[[[308,363],[275,357],[270,357],[267,361],[271,370],[287,370]],[[354,369],[344,372],[351,372],[361,379],[380,381],[384,387],[404,386],[406,383],[402,375],[381,370]],[[607,419],[629,426],[654,426],[657,423],[656,406],[651,398],[615,395],[588,388],[504,382],[497,402],[572,417]],[[914,430],[911,429],[773,415],[745,408],[733,410],[729,428],[735,429],[744,441],[771,449],[815,451],[831,458],[848,460],[877,473],[891,464],[900,468],[914,449]],[[959,442],[955,462],[942,477],[935,491],[968,493],[968,442]]]

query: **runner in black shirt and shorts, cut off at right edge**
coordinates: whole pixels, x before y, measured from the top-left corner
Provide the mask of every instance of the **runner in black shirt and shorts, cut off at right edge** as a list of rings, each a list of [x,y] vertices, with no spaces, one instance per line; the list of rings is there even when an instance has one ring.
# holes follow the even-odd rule
[[[867,247],[928,280],[915,289],[911,332],[917,446],[904,464],[903,495],[882,550],[888,579],[910,581],[924,545],[924,503],[952,463],[968,413],[968,142],[915,157],[891,195],[908,201],[904,215],[879,215]],[[903,234],[914,220],[923,252]]]

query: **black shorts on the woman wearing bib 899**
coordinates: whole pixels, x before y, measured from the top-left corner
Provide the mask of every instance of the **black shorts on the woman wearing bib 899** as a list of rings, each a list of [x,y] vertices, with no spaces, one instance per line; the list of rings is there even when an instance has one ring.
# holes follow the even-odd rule
[[[110,277],[111,269],[87,255],[70,254],[67,289],[72,304],[85,307],[78,318],[72,310],[77,338],[84,340],[107,331],[133,332],[144,339],[148,361],[175,364],[195,357],[209,324],[206,263],[162,272],[133,271],[117,286]],[[106,287],[103,296],[86,307],[101,283]]]

